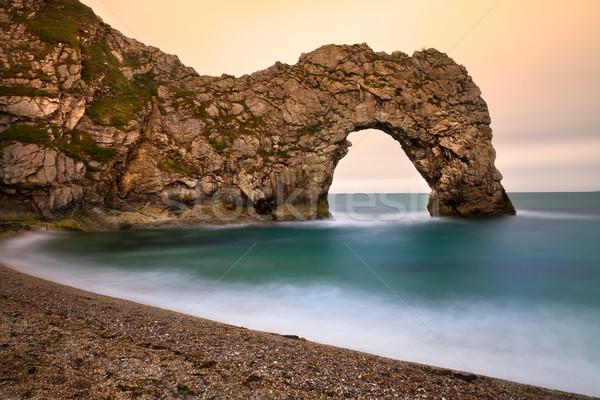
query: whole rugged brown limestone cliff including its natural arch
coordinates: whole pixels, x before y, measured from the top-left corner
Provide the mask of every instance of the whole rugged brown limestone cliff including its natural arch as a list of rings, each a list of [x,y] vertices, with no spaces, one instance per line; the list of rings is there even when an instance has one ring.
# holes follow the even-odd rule
[[[100,226],[328,215],[346,137],[399,142],[443,216],[514,214],[465,68],[323,46],[295,65],[200,76],[76,0],[0,3],[0,219]]]

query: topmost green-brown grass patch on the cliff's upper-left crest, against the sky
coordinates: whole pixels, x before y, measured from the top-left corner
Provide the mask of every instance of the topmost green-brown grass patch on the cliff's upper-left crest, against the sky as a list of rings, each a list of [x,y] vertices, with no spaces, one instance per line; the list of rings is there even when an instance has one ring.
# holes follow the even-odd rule
[[[86,25],[97,20],[92,9],[77,0],[46,0],[45,3],[34,18],[25,21],[27,29],[43,42],[78,47]]]

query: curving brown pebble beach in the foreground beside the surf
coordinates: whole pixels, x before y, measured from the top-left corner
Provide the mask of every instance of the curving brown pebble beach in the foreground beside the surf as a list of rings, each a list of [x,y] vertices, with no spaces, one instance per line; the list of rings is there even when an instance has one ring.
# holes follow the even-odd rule
[[[0,399],[21,398],[591,399],[252,331],[0,266]]]

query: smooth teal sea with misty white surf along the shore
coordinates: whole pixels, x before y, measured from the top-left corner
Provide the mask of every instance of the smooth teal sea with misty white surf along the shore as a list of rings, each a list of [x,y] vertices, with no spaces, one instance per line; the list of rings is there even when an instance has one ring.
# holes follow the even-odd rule
[[[37,231],[17,270],[394,359],[600,396],[600,192],[510,193],[431,218],[426,194],[337,194],[324,221]]]

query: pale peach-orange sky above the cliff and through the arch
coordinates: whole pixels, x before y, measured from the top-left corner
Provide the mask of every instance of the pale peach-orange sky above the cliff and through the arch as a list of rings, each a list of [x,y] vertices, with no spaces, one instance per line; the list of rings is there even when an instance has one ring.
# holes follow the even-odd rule
[[[507,191],[600,190],[600,1],[83,0],[129,37],[203,75],[294,64],[324,44],[464,65],[492,118]],[[167,6],[168,4],[168,6]],[[332,192],[427,192],[400,145],[354,133]],[[392,144],[392,146],[390,146]]]

